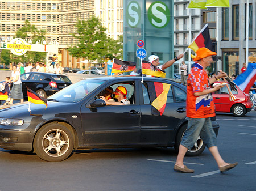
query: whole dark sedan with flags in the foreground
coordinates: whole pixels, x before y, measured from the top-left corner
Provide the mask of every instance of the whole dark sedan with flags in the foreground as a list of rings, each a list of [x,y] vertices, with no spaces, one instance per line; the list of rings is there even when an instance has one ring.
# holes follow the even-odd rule
[[[162,115],[152,107],[156,82],[170,84]],[[106,105],[106,88],[124,86],[130,105]],[[88,78],[48,97],[48,107],[28,102],[0,107],[0,148],[34,151],[41,159],[60,161],[73,150],[117,147],[175,147],[187,129],[186,87],[165,78]],[[218,134],[219,125],[212,118]],[[199,155],[199,137],[187,155]]]

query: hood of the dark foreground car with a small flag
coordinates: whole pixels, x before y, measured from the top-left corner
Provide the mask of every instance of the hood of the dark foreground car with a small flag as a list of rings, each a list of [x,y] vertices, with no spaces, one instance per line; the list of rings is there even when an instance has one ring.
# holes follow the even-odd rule
[[[28,114],[40,115],[43,116],[44,114],[50,113],[59,113],[59,111],[65,111],[67,108],[72,107],[74,103],[63,103],[63,102],[53,102],[47,101],[48,107],[44,104],[33,104],[30,103],[30,112],[28,111],[28,101],[23,103],[16,103],[12,105],[1,105],[0,106],[0,117],[1,118],[23,118],[26,117]],[[79,111],[77,109],[77,111]]]

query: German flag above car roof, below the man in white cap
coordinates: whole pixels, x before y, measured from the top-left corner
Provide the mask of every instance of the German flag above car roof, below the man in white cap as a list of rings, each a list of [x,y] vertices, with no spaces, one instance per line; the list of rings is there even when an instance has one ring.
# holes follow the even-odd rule
[[[152,75],[154,77],[165,78],[166,73],[163,70],[159,69],[159,67],[152,65],[152,63],[148,61],[142,61],[142,74]]]

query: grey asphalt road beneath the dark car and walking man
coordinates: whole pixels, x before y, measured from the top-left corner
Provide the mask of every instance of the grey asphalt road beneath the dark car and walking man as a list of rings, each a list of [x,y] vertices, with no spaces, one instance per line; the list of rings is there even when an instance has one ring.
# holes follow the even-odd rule
[[[185,158],[193,174],[173,171],[172,148],[82,150],[63,162],[0,149],[0,190],[256,190],[256,111],[217,114],[217,121],[222,157],[239,163],[225,173],[207,149]]]

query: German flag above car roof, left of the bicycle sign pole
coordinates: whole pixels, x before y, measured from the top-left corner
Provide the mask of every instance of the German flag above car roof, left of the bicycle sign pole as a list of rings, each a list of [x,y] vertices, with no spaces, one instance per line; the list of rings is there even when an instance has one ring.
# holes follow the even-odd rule
[[[135,68],[136,62],[122,61],[114,58],[111,73],[126,73],[128,71],[133,71]]]

